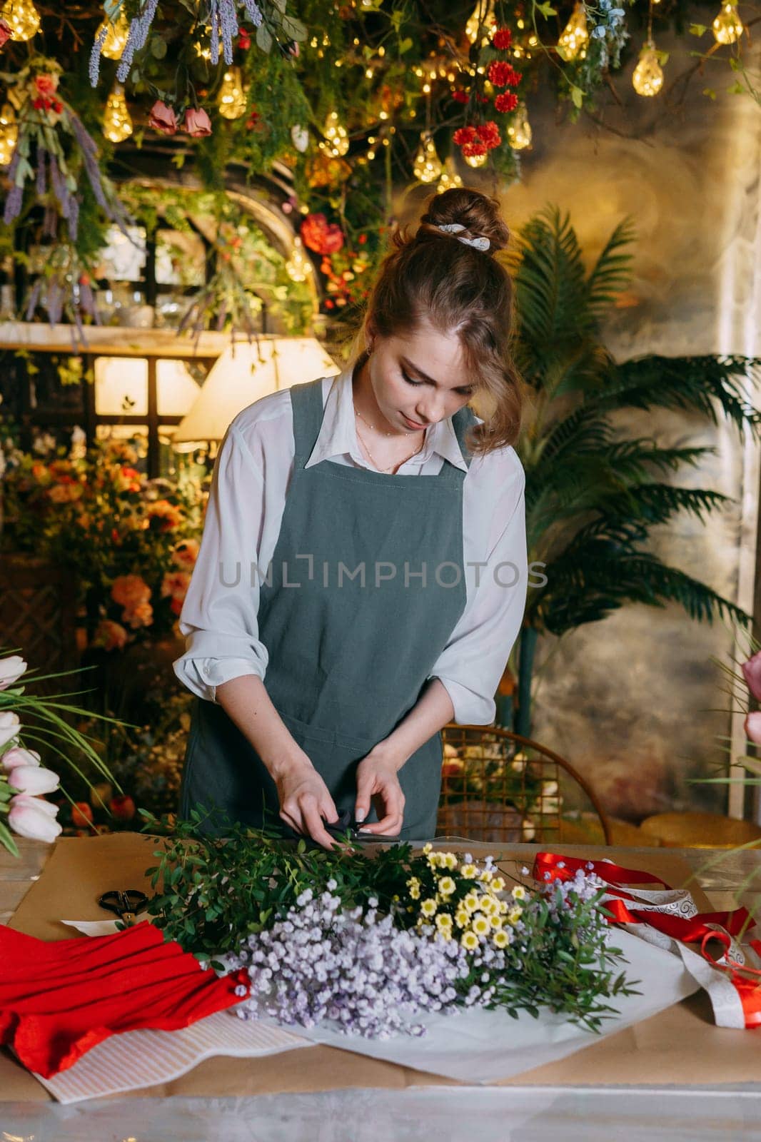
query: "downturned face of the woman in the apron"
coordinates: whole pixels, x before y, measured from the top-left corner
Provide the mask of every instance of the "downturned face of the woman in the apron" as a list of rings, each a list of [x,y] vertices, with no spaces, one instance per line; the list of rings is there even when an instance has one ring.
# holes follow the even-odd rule
[[[452,416],[475,392],[459,337],[427,321],[407,333],[374,336],[367,362],[370,385],[384,419],[396,432],[427,428]]]

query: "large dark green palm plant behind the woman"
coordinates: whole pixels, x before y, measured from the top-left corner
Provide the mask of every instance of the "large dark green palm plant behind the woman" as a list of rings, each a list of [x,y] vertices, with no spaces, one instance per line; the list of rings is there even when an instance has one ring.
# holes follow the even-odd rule
[[[616,362],[602,329],[631,280],[631,219],[612,231],[587,272],[569,215],[548,206],[519,235],[512,272],[515,357],[529,412],[516,450],[526,469],[529,562],[546,584],[530,587],[518,641],[514,729],[530,735],[537,640],[596,622],[626,603],[676,602],[692,619],[748,616],[698,579],[648,549],[650,531],[679,512],[702,522],[728,502],[711,489],[680,488],[664,476],[696,467],[712,448],[664,448],[616,426],[626,409],[683,410],[729,419],[758,436],[761,411],[746,383],[761,360],[658,355]]]

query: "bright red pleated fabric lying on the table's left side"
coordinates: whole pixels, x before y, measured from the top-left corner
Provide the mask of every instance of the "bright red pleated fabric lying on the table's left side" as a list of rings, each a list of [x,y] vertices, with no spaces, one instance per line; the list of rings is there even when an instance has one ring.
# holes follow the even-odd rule
[[[50,1078],[110,1035],[169,1031],[240,1002],[246,972],[219,979],[159,928],[46,942],[0,925],[0,1044]]]

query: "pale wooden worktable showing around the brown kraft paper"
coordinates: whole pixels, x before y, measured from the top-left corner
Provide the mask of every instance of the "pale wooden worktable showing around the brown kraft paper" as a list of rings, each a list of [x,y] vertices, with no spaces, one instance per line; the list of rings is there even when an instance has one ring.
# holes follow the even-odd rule
[[[536,847],[522,846],[527,863]],[[21,859],[0,852],[0,920],[6,922],[45,863],[49,850],[19,842]],[[563,846],[572,854],[572,847]],[[590,849],[584,850],[591,853]],[[599,849],[636,867],[638,850]],[[747,907],[761,906],[761,853],[679,850],[716,909],[735,907],[739,884],[752,877]],[[652,855],[652,850],[642,854]],[[711,861],[711,867],[705,867]],[[753,877],[756,872],[758,877]],[[1,970],[1,965],[0,965]],[[716,1087],[464,1086],[326,1091],[257,1097],[114,1097],[62,1107],[10,1103],[0,1092],[0,1142],[627,1142],[680,1139],[727,1142],[761,1139],[761,1030],[748,1031],[759,1051],[759,1083]],[[758,1045],[755,1036],[759,1036]]]

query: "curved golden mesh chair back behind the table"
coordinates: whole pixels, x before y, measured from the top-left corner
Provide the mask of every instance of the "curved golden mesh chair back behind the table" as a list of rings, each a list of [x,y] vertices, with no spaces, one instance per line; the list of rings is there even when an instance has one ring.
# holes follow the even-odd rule
[[[450,723],[441,737],[439,836],[551,844],[599,843],[601,833],[610,844],[610,827],[594,791],[546,746],[491,725]],[[577,788],[570,797],[572,786]],[[591,814],[569,810],[579,791]]]

